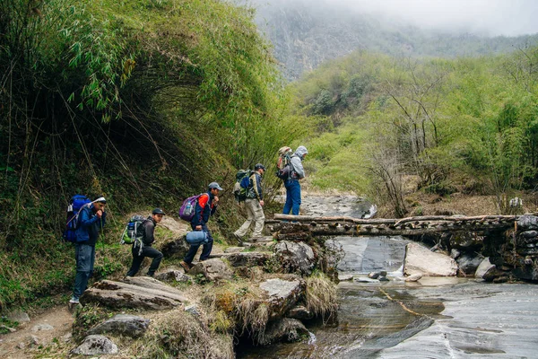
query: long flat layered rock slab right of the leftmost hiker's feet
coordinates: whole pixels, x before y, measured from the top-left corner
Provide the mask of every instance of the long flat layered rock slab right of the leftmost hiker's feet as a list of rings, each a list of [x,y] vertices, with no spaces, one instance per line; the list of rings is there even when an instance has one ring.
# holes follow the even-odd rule
[[[109,308],[171,309],[187,302],[177,289],[149,277],[126,278],[130,283],[102,280],[82,293],[81,303]]]

